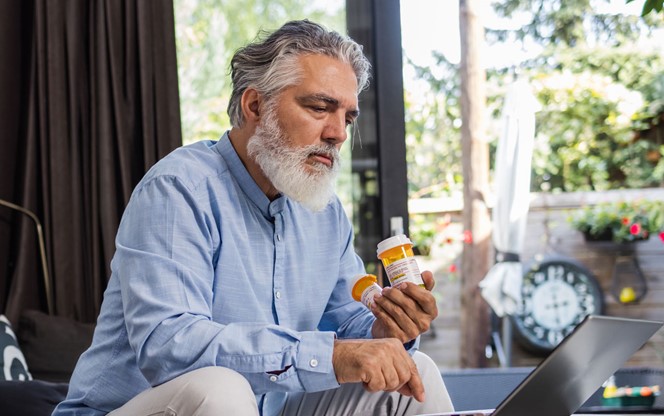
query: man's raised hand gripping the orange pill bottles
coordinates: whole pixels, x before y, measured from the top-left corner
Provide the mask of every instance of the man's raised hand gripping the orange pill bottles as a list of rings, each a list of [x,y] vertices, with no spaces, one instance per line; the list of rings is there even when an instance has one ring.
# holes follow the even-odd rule
[[[438,316],[438,305],[431,294],[435,284],[430,271],[422,273],[426,289],[407,282],[397,287],[386,287],[382,296],[374,298],[371,311],[376,321],[371,328],[374,338],[396,338],[409,342],[426,332]]]

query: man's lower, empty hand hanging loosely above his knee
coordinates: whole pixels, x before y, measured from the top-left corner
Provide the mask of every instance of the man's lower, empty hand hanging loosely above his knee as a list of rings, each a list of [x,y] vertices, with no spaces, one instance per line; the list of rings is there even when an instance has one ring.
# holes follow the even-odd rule
[[[370,392],[397,391],[424,401],[415,361],[394,338],[336,340],[332,365],[339,384],[363,383]]]

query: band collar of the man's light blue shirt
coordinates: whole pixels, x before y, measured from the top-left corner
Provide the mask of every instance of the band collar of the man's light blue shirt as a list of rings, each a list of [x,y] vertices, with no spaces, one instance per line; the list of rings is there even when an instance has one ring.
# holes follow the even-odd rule
[[[284,209],[286,197],[279,196],[274,201],[268,199],[242,163],[240,156],[238,156],[228,137],[228,132],[224,133],[214,147],[226,161],[231,175],[233,175],[238,185],[240,185],[242,191],[258,207],[265,218],[271,219]]]

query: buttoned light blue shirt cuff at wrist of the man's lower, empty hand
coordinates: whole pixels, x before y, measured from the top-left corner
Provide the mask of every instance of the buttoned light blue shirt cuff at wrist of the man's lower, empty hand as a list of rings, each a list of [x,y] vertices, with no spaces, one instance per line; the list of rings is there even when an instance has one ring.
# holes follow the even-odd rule
[[[301,332],[295,367],[305,391],[339,387],[332,365],[334,332]]]

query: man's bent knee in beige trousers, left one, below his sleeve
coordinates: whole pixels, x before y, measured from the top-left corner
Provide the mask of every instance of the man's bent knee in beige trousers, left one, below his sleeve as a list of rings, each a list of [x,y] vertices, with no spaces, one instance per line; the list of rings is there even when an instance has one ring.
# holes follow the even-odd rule
[[[224,367],[205,367],[187,378],[181,393],[192,414],[258,414],[256,396],[241,374]]]

